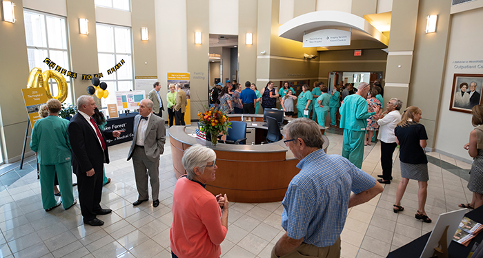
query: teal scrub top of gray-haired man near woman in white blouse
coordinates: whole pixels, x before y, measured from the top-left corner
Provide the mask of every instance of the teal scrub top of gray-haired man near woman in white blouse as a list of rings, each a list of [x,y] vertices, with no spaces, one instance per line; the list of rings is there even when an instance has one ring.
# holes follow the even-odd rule
[[[366,118],[373,116],[375,112],[368,112],[367,101],[358,94],[352,94],[344,98],[340,106],[340,128],[351,131],[366,131]]]

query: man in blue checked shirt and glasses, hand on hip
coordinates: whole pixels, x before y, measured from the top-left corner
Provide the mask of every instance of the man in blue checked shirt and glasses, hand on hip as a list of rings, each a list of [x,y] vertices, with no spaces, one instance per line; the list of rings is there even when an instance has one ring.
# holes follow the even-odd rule
[[[286,233],[271,257],[340,257],[339,236],[347,209],[368,202],[382,192],[382,186],[346,158],[326,155],[322,133],[313,120],[297,118],[285,130],[284,142],[300,160],[300,172],[282,201]]]

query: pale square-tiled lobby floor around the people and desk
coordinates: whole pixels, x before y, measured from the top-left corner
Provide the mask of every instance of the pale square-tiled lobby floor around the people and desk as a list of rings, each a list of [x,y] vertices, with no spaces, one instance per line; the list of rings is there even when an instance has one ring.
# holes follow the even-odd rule
[[[342,134],[328,130],[330,154],[342,153]],[[130,142],[110,147],[112,162],[106,175],[112,182],[103,188],[102,206],[110,215],[99,216],[101,227],[84,226],[79,204],[68,211],[55,208],[43,211],[40,184],[32,158],[23,169],[0,167],[0,257],[170,257],[169,228],[172,222],[172,191],[176,178],[172,171],[170,144],[161,156],[159,179],[161,204],[152,207],[137,200],[132,163],[126,161]],[[432,230],[433,224],[415,220],[417,182],[408,184],[402,205],[406,210],[393,213],[397,183],[400,181],[399,159],[394,153],[393,184],[366,204],[348,211],[342,232],[342,257],[386,257],[388,252]],[[437,214],[458,209],[457,204],[471,202],[466,188],[471,164],[428,153],[430,181],[426,211]],[[374,177],[382,173],[380,146],[366,147],[362,169]],[[10,169],[13,169],[9,171]],[[9,171],[6,173],[6,171]],[[223,173],[223,171],[218,171]],[[77,188],[74,189],[77,197]],[[284,233],[280,226],[281,202],[264,204],[230,203],[228,235],[221,244],[221,256],[270,257],[270,250]]]

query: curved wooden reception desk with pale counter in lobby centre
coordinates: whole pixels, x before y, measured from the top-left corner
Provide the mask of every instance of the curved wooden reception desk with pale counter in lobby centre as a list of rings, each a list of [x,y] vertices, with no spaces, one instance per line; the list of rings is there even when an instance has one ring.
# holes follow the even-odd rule
[[[260,125],[255,130],[267,130]],[[252,125],[247,122],[247,127]],[[283,140],[270,144],[234,145],[200,140],[192,136],[197,127],[172,126],[169,129],[172,164],[176,178],[184,175],[181,158],[193,144],[209,147],[217,153],[216,180],[208,182],[206,190],[214,195],[226,193],[233,202],[278,202],[284,199],[288,183],[299,173],[299,162]],[[195,133],[193,133],[195,134]],[[284,134],[284,131],[282,131]],[[324,151],[328,138],[324,137]]]

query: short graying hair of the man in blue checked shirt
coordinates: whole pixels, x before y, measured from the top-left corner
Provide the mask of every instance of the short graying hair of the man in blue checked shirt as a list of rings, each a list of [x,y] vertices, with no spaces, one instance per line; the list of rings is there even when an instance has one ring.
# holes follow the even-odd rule
[[[285,126],[288,136],[292,139],[301,138],[304,140],[307,147],[316,147],[322,149],[324,146],[324,139],[322,132],[320,132],[317,122],[308,118],[297,118]]]

